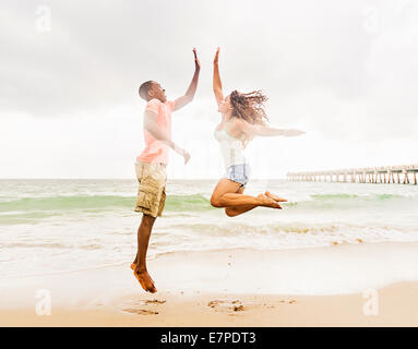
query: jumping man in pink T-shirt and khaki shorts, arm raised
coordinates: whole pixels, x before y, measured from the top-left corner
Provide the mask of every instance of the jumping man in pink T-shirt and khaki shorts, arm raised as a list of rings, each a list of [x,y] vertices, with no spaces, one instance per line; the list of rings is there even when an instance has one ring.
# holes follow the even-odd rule
[[[190,154],[171,141],[171,111],[178,110],[192,101],[199,81],[200,62],[194,55],[194,75],[186,95],[176,100],[167,100],[165,89],[154,81],[147,81],[140,87],[140,96],[147,101],[144,112],[145,149],[136,158],[135,171],[140,183],[135,212],[142,212],[141,226],[138,229],[138,253],[131,268],[142,288],[156,292],[154,280],[146,269],[146,251],[153,225],[162,216],[166,200],[166,166],[169,148],[184,157],[184,165]]]

